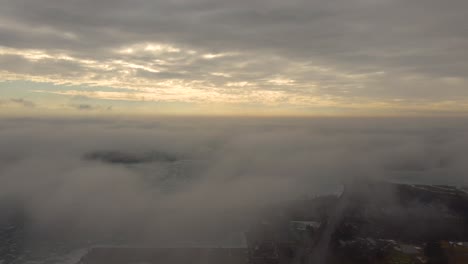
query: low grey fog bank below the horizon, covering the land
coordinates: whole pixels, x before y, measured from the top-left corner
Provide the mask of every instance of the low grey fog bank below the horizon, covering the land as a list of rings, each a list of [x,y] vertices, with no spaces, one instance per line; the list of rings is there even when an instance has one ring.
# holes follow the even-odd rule
[[[467,185],[467,134],[462,118],[3,119],[0,206],[39,237],[216,241],[356,179]]]

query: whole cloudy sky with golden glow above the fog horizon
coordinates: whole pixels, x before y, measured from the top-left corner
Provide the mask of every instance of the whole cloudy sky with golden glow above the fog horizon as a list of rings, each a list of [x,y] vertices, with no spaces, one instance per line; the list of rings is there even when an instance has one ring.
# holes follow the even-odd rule
[[[0,0],[0,113],[465,115],[465,0]]]

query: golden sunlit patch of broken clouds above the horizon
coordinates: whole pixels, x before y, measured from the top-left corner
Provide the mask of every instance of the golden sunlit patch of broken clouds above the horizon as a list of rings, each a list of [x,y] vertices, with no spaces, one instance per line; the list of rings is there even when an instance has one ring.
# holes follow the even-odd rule
[[[305,90],[313,91],[317,83],[310,80],[298,83],[285,77],[292,62],[273,58],[273,61],[284,67],[284,74],[263,78],[252,78],[247,70],[239,65],[248,66],[248,55],[240,53],[203,53],[194,50],[185,50],[173,45],[159,43],[141,43],[121,47],[111,51],[108,57],[101,60],[79,58],[63,52],[46,50],[22,50],[13,48],[0,48],[0,55],[17,56],[24,59],[27,64],[54,65],[60,62],[70,63],[75,74],[68,74],[63,68],[59,73],[44,74],[32,72],[11,73],[2,71],[0,74],[5,80],[31,80],[51,82],[56,84],[80,85],[96,87],[96,90],[64,89],[47,91],[35,89],[34,93],[51,93],[63,96],[83,96],[100,100],[124,100],[124,101],[153,101],[153,102],[185,102],[194,104],[225,103],[225,104],[258,104],[264,106],[279,106],[295,104],[300,107],[328,107],[337,104],[330,100],[330,96],[294,93],[288,90],[271,90],[271,87],[297,86]],[[141,56],[147,56],[141,60]],[[149,57],[148,57],[149,56]],[[233,68],[224,66],[225,72],[198,72],[188,74],[184,67],[197,66],[200,60],[217,60],[224,57],[235,58]],[[211,65],[201,66],[209,67]],[[299,67],[306,70],[304,67]],[[78,70],[77,70],[78,69]],[[168,70],[169,69],[169,70]],[[180,70],[177,70],[180,69]],[[317,71],[317,69],[319,69]],[[318,73],[327,72],[340,76],[331,69],[324,71],[317,66],[311,66],[309,71]],[[76,72],[77,71],[77,72]],[[152,76],[152,74],[155,74]],[[162,74],[158,76],[158,74]],[[165,77],[164,74],[168,74]],[[177,75],[179,74],[179,75]],[[173,75],[173,76],[172,76]],[[247,80],[242,80],[245,76]],[[119,91],[100,91],[98,87],[113,87]],[[246,89],[248,88],[248,89]],[[122,91],[123,89],[123,91]]]

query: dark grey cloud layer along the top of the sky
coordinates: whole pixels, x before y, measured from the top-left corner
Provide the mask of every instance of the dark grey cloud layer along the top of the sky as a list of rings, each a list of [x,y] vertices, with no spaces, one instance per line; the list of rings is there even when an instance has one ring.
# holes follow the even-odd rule
[[[411,59],[412,56],[402,55],[422,55],[429,48],[439,52],[426,55],[437,57],[449,52],[450,45],[461,46],[458,55],[463,55],[464,43],[457,40],[467,37],[466,23],[463,23],[467,4],[457,0],[444,3],[435,0],[291,1],[287,4],[265,0],[3,2],[2,17],[13,25],[15,22],[35,25],[38,29],[77,36],[73,41],[76,47],[51,40],[46,48],[78,51],[86,50],[86,45],[91,47],[91,44],[97,44],[99,51],[156,40],[198,44],[218,52],[273,49],[298,53],[301,58],[318,54],[352,59],[354,55],[359,60],[365,60],[368,54],[377,56],[369,56],[369,60],[378,61],[387,60],[379,58],[378,53],[389,59]],[[38,47],[33,41],[30,43],[32,48]],[[450,52],[456,55],[456,51]],[[420,64],[417,58],[414,58],[416,64],[428,66]]]

